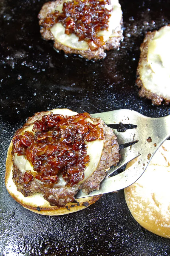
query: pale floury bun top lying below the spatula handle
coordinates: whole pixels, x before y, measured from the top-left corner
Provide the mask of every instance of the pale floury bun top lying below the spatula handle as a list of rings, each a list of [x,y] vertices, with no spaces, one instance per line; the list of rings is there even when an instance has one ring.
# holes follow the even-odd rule
[[[170,238],[169,183],[170,141],[167,140],[155,153],[145,173],[124,189],[134,219],[150,232],[166,238]]]

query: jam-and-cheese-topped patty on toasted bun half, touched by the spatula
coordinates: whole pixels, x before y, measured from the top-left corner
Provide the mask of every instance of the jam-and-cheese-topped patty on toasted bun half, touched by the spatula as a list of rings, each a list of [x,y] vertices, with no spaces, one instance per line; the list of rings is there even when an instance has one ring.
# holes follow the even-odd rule
[[[40,195],[49,206],[62,208],[79,189],[86,194],[99,189],[119,159],[116,136],[100,118],[68,109],[38,112],[12,139],[5,184],[14,198],[15,187],[17,199]],[[22,200],[17,201],[32,209]]]

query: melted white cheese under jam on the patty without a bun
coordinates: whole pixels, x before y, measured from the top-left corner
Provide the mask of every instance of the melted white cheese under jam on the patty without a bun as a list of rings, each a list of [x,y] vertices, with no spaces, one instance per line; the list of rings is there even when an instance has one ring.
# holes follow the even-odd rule
[[[66,1],[68,2],[68,0]],[[118,0],[111,0],[111,5],[105,6],[108,10],[111,10],[113,7],[113,11],[111,13],[111,17],[109,18],[109,28],[108,30],[103,30],[98,32],[98,36],[103,36],[104,41],[106,42],[109,37],[119,36],[118,31],[120,31],[120,21],[122,18],[121,6]],[[60,4],[55,10],[62,12],[63,4]],[[62,43],[63,45],[76,49],[76,50],[88,50],[89,46],[86,41],[81,40],[75,34],[65,34],[65,28],[61,23],[56,23],[50,29],[55,39]]]

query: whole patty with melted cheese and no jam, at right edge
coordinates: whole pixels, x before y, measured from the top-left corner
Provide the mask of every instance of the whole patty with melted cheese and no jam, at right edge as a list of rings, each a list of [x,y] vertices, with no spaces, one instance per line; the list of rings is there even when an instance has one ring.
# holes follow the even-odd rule
[[[137,68],[139,96],[161,105],[170,102],[170,25],[158,31],[147,32],[140,46],[140,60]]]

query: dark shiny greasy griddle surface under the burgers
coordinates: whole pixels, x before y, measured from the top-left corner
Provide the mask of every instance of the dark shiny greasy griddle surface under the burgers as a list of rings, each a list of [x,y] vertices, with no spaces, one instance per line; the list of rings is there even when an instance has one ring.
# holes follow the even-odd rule
[[[123,190],[103,195],[80,212],[55,217],[24,209],[5,188],[10,140],[37,111],[128,108],[152,117],[170,112],[170,106],[140,99],[135,86],[144,34],[170,23],[170,1],[120,0],[124,41],[119,51],[109,51],[97,62],[57,53],[52,42],[41,39],[37,15],[44,2],[0,1],[0,255],[170,255],[169,239],[133,219]]]

